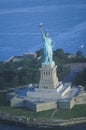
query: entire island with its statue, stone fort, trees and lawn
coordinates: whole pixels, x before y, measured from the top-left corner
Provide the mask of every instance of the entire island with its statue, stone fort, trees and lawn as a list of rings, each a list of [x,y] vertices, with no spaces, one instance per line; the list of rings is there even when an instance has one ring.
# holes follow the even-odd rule
[[[85,123],[86,57],[53,51],[42,24],[40,30],[41,50],[0,63],[0,120],[38,127]]]

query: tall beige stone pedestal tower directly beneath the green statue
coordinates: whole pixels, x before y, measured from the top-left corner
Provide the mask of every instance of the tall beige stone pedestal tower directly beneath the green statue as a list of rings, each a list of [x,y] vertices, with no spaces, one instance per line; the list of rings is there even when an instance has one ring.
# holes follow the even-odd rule
[[[56,76],[56,68],[55,63],[42,64],[42,68],[40,68],[39,88],[57,88],[58,78]]]

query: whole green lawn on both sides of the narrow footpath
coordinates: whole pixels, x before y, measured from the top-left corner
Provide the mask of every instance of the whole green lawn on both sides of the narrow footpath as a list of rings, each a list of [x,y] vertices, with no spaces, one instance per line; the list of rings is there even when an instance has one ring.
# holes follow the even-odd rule
[[[9,115],[23,115],[29,118],[37,119],[50,119],[54,110],[47,110],[43,112],[33,112],[24,108],[11,108],[9,106],[0,106],[0,112],[7,113]],[[86,104],[76,105],[71,110],[57,110],[53,119],[70,119],[86,117]]]

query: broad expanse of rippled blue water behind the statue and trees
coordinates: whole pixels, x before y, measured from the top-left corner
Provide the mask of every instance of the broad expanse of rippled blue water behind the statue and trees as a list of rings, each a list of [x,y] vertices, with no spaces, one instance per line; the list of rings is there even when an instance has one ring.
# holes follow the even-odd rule
[[[0,0],[0,60],[42,48],[40,22],[54,49],[86,55],[86,0]]]

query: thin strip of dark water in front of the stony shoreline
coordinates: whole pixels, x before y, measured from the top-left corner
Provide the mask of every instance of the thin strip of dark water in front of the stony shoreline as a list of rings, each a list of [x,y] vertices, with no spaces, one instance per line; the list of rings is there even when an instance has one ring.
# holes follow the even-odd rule
[[[26,126],[19,126],[13,124],[9,125],[9,124],[0,123],[0,130],[86,130],[86,124],[79,124],[79,125],[69,126],[69,127],[30,128]]]

